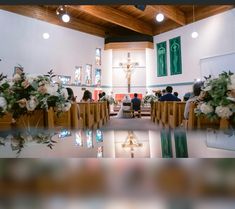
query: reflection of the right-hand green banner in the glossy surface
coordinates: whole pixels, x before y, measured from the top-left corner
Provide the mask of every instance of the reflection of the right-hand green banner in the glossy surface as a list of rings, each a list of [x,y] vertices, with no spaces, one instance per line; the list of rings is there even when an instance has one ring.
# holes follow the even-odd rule
[[[188,158],[187,136],[185,130],[174,131],[175,152],[177,158]]]

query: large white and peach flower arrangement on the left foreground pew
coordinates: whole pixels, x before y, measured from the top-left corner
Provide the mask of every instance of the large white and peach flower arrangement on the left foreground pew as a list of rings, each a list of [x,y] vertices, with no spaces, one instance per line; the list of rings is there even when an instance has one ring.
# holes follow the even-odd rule
[[[14,119],[36,109],[48,110],[53,107],[59,114],[68,111],[71,102],[68,92],[60,83],[54,83],[55,75],[49,71],[47,75],[30,76],[23,71],[17,72],[11,80],[0,75],[0,117],[7,112]]]

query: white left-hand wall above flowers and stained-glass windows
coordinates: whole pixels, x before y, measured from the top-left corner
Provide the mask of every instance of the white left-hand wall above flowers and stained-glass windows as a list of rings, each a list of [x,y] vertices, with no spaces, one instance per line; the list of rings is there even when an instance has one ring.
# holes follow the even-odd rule
[[[85,70],[91,64],[94,83],[95,49],[101,48],[103,56],[103,38],[3,10],[0,27],[0,69],[4,74],[11,76],[14,66],[20,64],[26,73],[45,74],[53,69],[55,74],[71,76],[73,82],[75,66]],[[44,32],[50,34],[48,40],[42,38]],[[80,98],[81,87],[73,89]]]

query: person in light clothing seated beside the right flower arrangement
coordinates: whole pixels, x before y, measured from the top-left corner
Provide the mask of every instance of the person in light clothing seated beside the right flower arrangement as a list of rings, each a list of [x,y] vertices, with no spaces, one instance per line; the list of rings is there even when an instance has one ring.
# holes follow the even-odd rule
[[[203,86],[203,82],[196,82],[193,85],[193,94],[194,96],[187,100],[185,108],[184,108],[184,118],[188,119],[189,115],[189,108],[191,102],[199,102],[201,100],[200,94],[201,94],[201,88]]]

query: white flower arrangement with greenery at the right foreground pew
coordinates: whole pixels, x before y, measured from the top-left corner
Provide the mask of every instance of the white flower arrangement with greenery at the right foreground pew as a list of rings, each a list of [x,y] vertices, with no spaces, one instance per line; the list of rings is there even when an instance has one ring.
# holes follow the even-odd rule
[[[219,74],[218,78],[205,79],[195,113],[210,119],[235,120],[235,74],[229,71]]]

